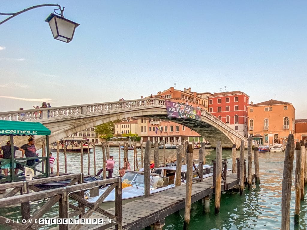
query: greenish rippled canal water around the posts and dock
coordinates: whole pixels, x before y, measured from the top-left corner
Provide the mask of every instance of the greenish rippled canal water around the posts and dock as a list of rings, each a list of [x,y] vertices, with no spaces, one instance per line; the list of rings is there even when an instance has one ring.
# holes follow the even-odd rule
[[[96,147],[96,170],[98,171],[102,165],[101,147]],[[110,148],[110,155],[114,156],[115,169],[113,175],[118,175],[118,147]],[[53,153],[56,157],[56,153]],[[211,160],[215,159],[216,151],[206,149],[206,164],[212,164]],[[240,152],[237,151],[237,157]],[[163,163],[163,149],[159,150],[160,163]],[[232,167],[231,150],[223,150],[223,158],[228,159],[228,168]],[[247,151],[245,151],[247,157]],[[138,163],[141,167],[141,150],[138,149]],[[168,161],[176,158],[176,150],[165,150],[165,157]],[[198,158],[198,150],[194,150],[193,158]],[[123,151],[121,150],[121,165],[123,159]],[[133,150],[128,150],[128,159],[131,169],[133,169]],[[153,159],[153,149],[151,152]],[[60,153],[60,172],[64,172],[64,154]],[[80,172],[80,153],[67,153],[68,172]],[[239,193],[223,192],[221,195],[220,213],[214,214],[214,196],[210,202],[210,213],[203,213],[202,201],[196,201],[192,204],[190,229],[209,230],[209,229],[281,229],[281,195],[282,195],[282,173],[283,173],[284,153],[260,153],[259,169],[260,169],[260,185],[255,184],[252,190],[245,190],[243,196]],[[56,164],[55,164],[56,165]],[[84,173],[87,173],[88,156],[84,153]],[[90,152],[90,174],[94,174],[93,152]],[[295,166],[295,159],[294,159]],[[294,169],[295,167],[293,167]],[[54,168],[56,172],[56,167]],[[254,173],[254,169],[253,169]],[[307,195],[305,196],[307,200]],[[307,202],[301,202],[300,225],[294,227],[294,171],[293,171],[293,187],[290,206],[290,229],[307,229]],[[46,201],[31,202],[31,214],[38,210]],[[0,209],[0,215],[14,220],[21,221],[20,207],[7,207]],[[42,218],[57,218],[58,208],[54,205],[48,213]],[[183,229],[184,210],[165,218],[164,230],[181,230]],[[46,225],[40,229],[49,229],[54,225]],[[11,229],[0,224],[0,229]]]

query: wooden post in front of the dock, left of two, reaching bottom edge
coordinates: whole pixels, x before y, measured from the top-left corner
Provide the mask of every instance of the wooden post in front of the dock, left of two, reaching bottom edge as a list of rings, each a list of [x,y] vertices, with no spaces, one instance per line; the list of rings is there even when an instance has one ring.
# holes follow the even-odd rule
[[[183,229],[189,229],[190,224],[190,213],[191,213],[191,195],[192,195],[192,166],[193,166],[193,146],[192,144],[187,145],[187,182],[185,191],[185,221]]]

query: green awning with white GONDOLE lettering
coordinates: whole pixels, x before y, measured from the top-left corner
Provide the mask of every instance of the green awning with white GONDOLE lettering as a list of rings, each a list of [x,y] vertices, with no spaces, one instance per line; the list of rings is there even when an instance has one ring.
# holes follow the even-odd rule
[[[38,122],[0,120],[0,136],[50,135],[51,131]]]

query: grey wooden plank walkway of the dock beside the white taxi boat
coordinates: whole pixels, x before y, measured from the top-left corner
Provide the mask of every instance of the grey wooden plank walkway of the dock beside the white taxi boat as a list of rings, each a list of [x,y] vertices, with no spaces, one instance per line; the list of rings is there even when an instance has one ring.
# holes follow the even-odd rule
[[[255,174],[252,175],[252,178],[255,178]],[[227,190],[238,187],[239,181],[240,179],[237,178],[236,173],[227,175]],[[185,184],[173,187],[122,205],[122,229],[142,229],[183,209],[185,207],[185,187]],[[223,183],[221,184],[221,191],[224,191]],[[213,178],[204,179],[200,183],[192,183],[191,202],[198,201],[213,193]],[[114,208],[108,211],[114,213]],[[103,218],[103,215],[94,213],[91,218]],[[97,227],[98,225],[91,225],[90,227],[95,226]],[[89,228],[88,226],[82,226],[80,229],[88,230]],[[115,229],[115,226],[108,229]]]

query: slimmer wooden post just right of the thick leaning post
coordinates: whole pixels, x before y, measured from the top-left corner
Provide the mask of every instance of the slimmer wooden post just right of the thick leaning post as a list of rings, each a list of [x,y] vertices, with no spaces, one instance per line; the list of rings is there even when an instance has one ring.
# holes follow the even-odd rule
[[[300,223],[300,204],[301,204],[301,143],[297,142],[295,146],[295,209],[294,225]]]

